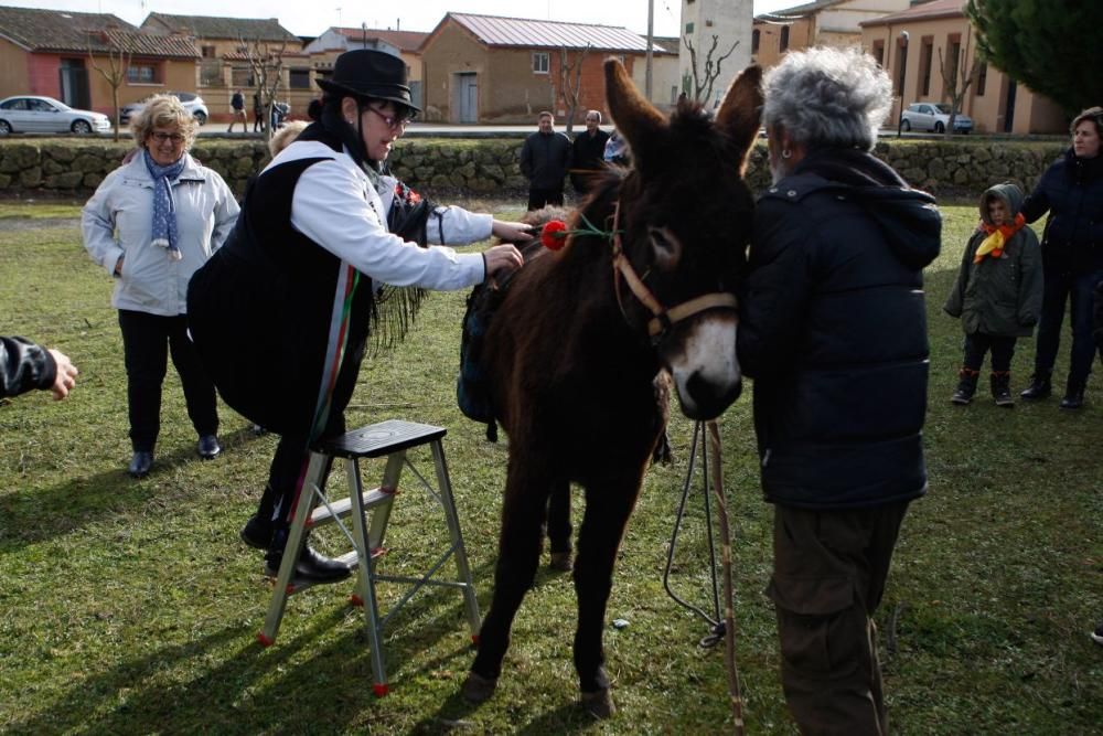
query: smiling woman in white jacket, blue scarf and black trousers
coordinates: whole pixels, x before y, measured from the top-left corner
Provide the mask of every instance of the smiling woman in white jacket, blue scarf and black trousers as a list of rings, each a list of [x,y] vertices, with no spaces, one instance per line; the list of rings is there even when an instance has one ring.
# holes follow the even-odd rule
[[[180,374],[201,458],[214,458],[218,413],[214,384],[188,338],[188,281],[237,220],[233,192],[189,153],[195,121],[180,102],[152,97],[130,124],[138,154],[104,180],[84,206],[84,245],[115,277],[127,366],[128,472],[146,476],[160,431],[168,355]]]

